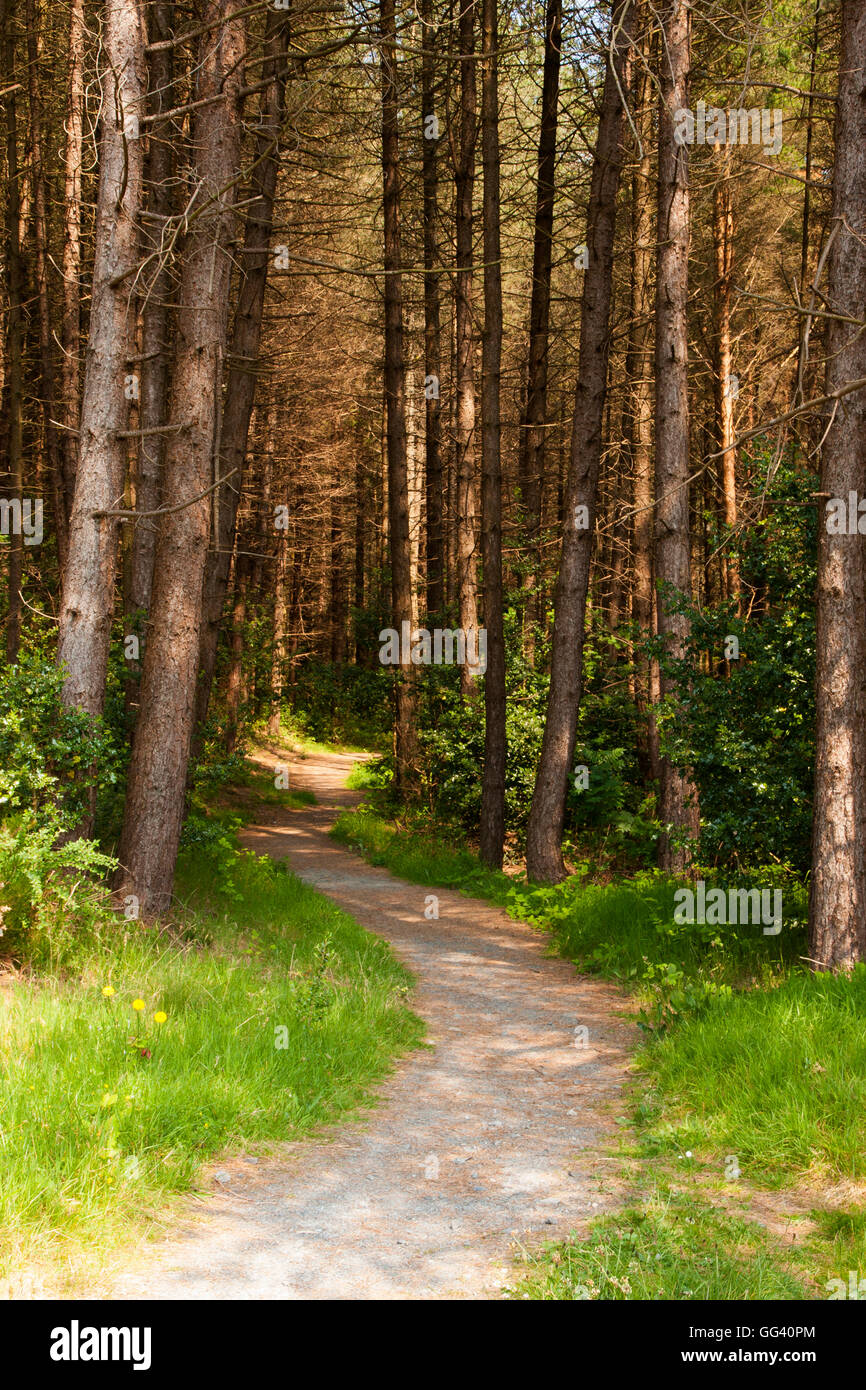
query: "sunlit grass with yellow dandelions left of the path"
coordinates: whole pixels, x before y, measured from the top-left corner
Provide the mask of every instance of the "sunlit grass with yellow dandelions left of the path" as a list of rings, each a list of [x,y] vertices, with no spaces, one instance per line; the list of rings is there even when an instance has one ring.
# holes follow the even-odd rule
[[[6,1277],[72,1287],[203,1163],[356,1112],[421,1038],[385,942],[227,835],[183,852],[171,931],[114,920],[79,942],[75,977],[4,977]]]

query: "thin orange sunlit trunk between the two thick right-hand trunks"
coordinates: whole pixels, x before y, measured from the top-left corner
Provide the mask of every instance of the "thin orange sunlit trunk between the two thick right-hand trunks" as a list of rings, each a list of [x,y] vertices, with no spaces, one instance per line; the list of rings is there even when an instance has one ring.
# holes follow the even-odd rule
[[[716,146],[720,163],[713,189],[713,245],[716,250],[716,414],[721,453],[721,499],[724,524],[737,525],[737,450],[734,449],[734,396],[731,385],[731,284],[734,271],[734,204],[731,199],[731,156]],[[734,542],[735,543],[735,542]],[[726,548],[727,598],[740,605],[740,564]]]

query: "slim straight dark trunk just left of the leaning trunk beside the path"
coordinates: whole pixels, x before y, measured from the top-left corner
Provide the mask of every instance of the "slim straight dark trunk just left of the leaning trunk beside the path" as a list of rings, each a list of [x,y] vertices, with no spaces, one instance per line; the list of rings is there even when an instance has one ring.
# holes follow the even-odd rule
[[[502,867],[505,844],[506,689],[502,614],[502,245],[499,213],[498,0],[482,0],[481,153],[484,164],[484,343],[481,367],[481,553],[484,562],[484,777],[481,859]]]

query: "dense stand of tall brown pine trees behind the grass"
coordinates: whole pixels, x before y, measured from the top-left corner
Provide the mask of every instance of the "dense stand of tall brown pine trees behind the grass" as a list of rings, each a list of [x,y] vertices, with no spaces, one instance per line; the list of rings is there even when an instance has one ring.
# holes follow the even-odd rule
[[[660,866],[723,853],[752,680],[815,749],[813,960],[866,958],[862,7],[3,0],[0,51],[6,657],[95,719],[122,659],[118,892],[167,910],[190,756],[316,670],[378,673],[417,799],[456,630],[488,865],[566,873],[610,698]]]

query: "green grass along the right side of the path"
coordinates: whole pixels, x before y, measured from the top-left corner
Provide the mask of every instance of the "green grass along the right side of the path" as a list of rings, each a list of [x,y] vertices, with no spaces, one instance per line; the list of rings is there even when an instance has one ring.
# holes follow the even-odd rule
[[[826,1277],[840,1269],[863,1277],[866,966],[851,977],[808,969],[802,883],[773,869],[753,876],[767,884],[776,873],[783,887],[783,930],[763,935],[760,926],[677,923],[677,885],[659,873],[596,884],[584,872],[534,885],[485,869],[445,833],[418,833],[370,808],[345,812],[332,833],[403,878],[463,890],[545,930],[552,951],[616,980],[639,1006],[630,1176],[642,1201],[613,1223],[594,1225],[588,1240],[531,1257],[517,1297],[574,1297],[567,1289],[578,1276],[603,1298],[687,1298],[698,1286],[713,1291],[694,1297],[738,1298],[746,1287],[751,1298],[826,1297]],[[749,881],[741,876],[731,885]],[[735,1183],[726,1179],[731,1158]],[[685,1179],[701,1191],[683,1197]],[[806,1211],[812,1204],[794,1273],[759,1225],[749,1222],[748,1237],[738,1225],[753,1197],[773,1190],[798,1194]],[[720,1202],[740,1215],[720,1212]],[[652,1234],[662,1251],[657,1273],[630,1265],[637,1257],[628,1241],[620,1250],[623,1232],[638,1248]],[[676,1233],[681,1245],[671,1244]],[[628,1277],[632,1293],[617,1293],[607,1275]],[[806,1293],[783,1291],[791,1279]]]

